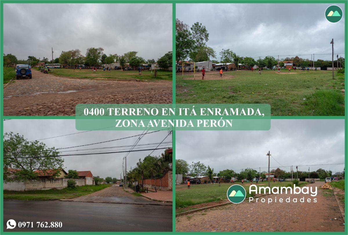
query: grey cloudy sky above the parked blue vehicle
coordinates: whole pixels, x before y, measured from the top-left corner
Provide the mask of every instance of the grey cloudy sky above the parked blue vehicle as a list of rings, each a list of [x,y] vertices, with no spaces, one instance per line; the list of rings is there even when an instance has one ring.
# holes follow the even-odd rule
[[[27,13],[23,14],[23,9]],[[3,52],[18,59],[59,57],[62,51],[102,47],[157,59],[172,50],[172,4],[3,5]]]

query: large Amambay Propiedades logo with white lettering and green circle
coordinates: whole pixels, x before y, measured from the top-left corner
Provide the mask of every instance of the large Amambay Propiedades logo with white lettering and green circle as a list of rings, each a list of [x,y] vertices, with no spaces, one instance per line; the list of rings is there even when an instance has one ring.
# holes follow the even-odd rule
[[[249,193],[250,194],[303,194],[303,195],[310,195],[312,197],[317,196],[317,187],[308,187],[308,186],[304,186],[304,187],[298,187],[294,184],[293,187],[290,186],[284,186],[284,187],[263,187],[263,186],[256,186],[256,185],[250,185],[249,186]],[[232,203],[241,203],[245,200],[246,197],[246,191],[244,189],[244,187],[242,185],[232,185],[231,187],[229,187],[227,189],[227,198],[230,202]],[[249,202],[254,201],[254,197],[249,197]],[[304,196],[297,198],[297,197],[291,197],[288,196],[286,198],[278,198],[274,197],[274,198],[256,198],[255,202],[268,202],[272,203],[272,202],[317,202],[317,198],[305,198]]]

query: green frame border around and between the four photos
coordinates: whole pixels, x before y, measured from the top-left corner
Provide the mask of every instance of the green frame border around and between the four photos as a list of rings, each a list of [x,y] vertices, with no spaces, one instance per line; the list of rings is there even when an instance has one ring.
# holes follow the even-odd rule
[[[345,58],[348,55],[348,47],[347,47],[347,21],[348,21],[348,1],[347,0],[289,0],[289,1],[281,1],[281,0],[2,0],[0,3],[0,25],[3,29],[3,4],[4,3],[169,3],[172,4],[172,12],[173,12],[173,67],[175,67],[175,19],[176,19],[176,3],[327,3],[327,4],[344,4],[345,10]],[[3,64],[3,30],[0,30],[0,64]],[[347,65],[345,65],[345,90],[348,88],[347,84]],[[0,81],[2,84],[3,81],[3,73],[0,74]],[[176,87],[176,79],[175,73],[173,73],[173,106],[175,106],[175,87]],[[74,116],[4,116],[3,115],[3,86],[0,88],[0,132],[3,135],[3,119],[75,119]],[[348,158],[348,98],[347,94],[345,95],[345,116],[272,116],[271,119],[344,119],[345,120],[345,188],[348,186],[347,182],[347,158]],[[173,172],[175,172],[175,129],[173,129]],[[3,139],[1,138],[0,143],[0,154],[1,160],[3,157],[2,153],[3,148]],[[0,190],[3,190],[3,172],[2,168],[0,168]],[[347,234],[347,199],[348,193],[345,192],[345,232],[217,232],[217,234]],[[173,174],[173,199],[175,198],[175,174]],[[0,196],[0,227],[3,225],[3,197]],[[5,232],[3,228],[0,230],[0,234],[211,234],[211,232],[175,232],[175,200],[173,200],[173,232]]]

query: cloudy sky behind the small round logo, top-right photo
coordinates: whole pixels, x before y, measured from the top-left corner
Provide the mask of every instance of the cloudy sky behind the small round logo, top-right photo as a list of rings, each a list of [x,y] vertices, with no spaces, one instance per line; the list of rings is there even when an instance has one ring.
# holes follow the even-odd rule
[[[191,26],[200,22],[209,33],[207,45],[220,59],[222,49],[231,49],[237,55],[255,57],[345,52],[345,13],[338,23],[325,18],[331,4],[176,4],[176,18]],[[304,56],[305,54],[309,54]],[[339,55],[344,57],[344,55]],[[289,56],[292,57],[292,56]],[[315,60],[330,59],[317,55]]]

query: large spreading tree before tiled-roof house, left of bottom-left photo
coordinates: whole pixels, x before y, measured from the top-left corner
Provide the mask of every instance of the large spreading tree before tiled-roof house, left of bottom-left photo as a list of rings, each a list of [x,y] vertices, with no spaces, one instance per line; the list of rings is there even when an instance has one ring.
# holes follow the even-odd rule
[[[54,147],[49,148],[38,140],[29,142],[23,135],[6,132],[3,135],[3,179],[4,181],[13,180],[8,175],[8,168],[19,169],[14,172],[17,180],[37,179],[35,170],[41,170],[44,173],[50,170],[55,177],[64,163],[64,159],[58,154]]]

